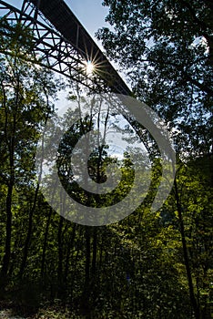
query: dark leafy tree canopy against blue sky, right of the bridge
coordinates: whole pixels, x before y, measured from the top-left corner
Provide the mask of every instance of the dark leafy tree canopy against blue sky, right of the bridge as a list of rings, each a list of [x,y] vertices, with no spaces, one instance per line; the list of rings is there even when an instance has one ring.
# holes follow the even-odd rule
[[[213,97],[210,2],[106,0],[104,5],[109,6],[106,21],[113,28],[100,29],[97,38],[107,56],[128,70],[137,98],[166,119],[178,152],[209,153]]]

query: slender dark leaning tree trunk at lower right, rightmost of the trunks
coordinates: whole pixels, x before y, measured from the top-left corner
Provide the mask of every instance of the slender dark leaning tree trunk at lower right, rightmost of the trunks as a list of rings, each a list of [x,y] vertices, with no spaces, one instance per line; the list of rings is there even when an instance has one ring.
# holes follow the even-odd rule
[[[185,261],[185,266],[186,266],[186,271],[187,271],[187,276],[188,276],[188,289],[189,289],[190,301],[191,301],[191,305],[192,305],[192,308],[194,310],[196,319],[200,319],[198,303],[196,301],[194,288],[193,288],[193,283],[192,283],[192,275],[191,275],[189,259],[188,259],[187,241],[186,241],[186,236],[185,236],[185,227],[184,227],[184,222],[183,222],[182,209],[181,209],[179,196],[178,196],[177,180],[176,179],[174,181],[174,185],[175,185],[175,194],[176,194],[176,201],[177,201],[177,213],[178,213],[178,220],[179,220],[179,225],[180,225],[180,233],[181,233],[184,261]]]

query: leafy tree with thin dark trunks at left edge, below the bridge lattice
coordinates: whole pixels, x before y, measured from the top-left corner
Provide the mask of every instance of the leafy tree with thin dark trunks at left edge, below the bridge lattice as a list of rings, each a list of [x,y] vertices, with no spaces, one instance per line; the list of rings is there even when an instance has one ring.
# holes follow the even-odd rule
[[[20,193],[31,192],[35,183],[35,149],[39,132],[53,111],[50,102],[56,96],[56,84],[45,68],[27,62],[32,48],[31,32],[21,25],[10,26],[1,20],[0,113],[2,156],[1,185],[5,186],[6,235],[1,269],[4,288],[11,259],[12,229],[16,200]],[[26,58],[25,58],[26,57]],[[37,61],[35,60],[35,63]],[[32,215],[37,201],[38,184],[33,204],[28,205],[28,232],[21,273],[24,272],[27,250],[32,235]]]

